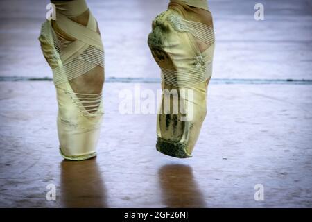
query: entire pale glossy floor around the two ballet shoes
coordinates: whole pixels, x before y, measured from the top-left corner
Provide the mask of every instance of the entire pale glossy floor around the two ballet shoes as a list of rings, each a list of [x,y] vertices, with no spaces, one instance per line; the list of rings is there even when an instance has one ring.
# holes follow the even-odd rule
[[[187,160],[156,151],[156,114],[119,112],[121,89],[160,89],[146,42],[168,1],[87,2],[105,45],[105,117],[98,157],[69,162],[37,41],[49,1],[0,1],[0,207],[312,207],[311,1],[261,1],[264,21],[256,2],[209,1],[214,74]]]

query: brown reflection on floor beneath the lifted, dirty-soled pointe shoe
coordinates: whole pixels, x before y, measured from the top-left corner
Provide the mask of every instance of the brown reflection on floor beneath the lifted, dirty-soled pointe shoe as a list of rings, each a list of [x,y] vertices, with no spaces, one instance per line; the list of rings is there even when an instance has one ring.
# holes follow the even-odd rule
[[[190,166],[164,165],[159,169],[158,177],[166,207],[207,207]]]

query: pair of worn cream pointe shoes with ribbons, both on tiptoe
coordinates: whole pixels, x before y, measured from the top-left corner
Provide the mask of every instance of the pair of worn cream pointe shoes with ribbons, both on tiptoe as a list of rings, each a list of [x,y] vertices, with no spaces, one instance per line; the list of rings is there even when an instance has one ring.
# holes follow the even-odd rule
[[[87,160],[96,156],[103,116],[102,85],[99,92],[86,92],[75,87],[75,80],[96,73],[103,76],[103,44],[91,12],[85,25],[74,22],[73,18],[88,10],[85,0],[58,1],[56,9],[57,19],[42,24],[39,40],[53,70],[58,96],[60,153],[67,160]],[[157,150],[173,157],[191,157],[207,112],[214,53],[209,10],[172,1],[153,21],[148,46],[162,70]],[[177,101],[167,100],[168,94]]]

